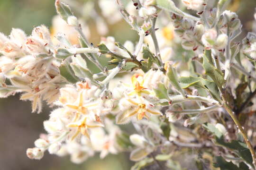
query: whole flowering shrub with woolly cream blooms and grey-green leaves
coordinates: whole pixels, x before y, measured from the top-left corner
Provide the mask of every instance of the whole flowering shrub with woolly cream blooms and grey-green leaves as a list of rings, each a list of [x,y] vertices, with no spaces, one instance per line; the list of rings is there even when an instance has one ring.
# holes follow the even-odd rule
[[[20,93],[32,112],[43,101],[55,108],[30,159],[129,152],[132,170],[183,170],[175,157],[193,155],[198,169],[256,170],[256,34],[235,42],[242,26],[229,0],[179,2],[193,15],[172,0],[86,2],[99,34],[123,18],[136,44],[106,37],[95,46],[61,0],[54,36],[46,26],[0,34],[0,97]]]

